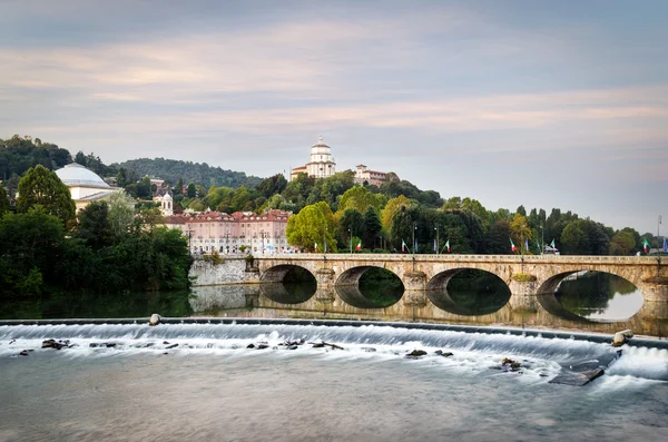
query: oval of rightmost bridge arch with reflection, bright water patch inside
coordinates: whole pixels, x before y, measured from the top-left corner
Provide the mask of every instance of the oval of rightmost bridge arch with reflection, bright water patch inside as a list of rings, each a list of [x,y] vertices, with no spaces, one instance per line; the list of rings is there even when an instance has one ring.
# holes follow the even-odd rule
[[[603,272],[566,272],[546,281],[538,301],[551,314],[588,322],[626,321],[642,307],[629,281]]]

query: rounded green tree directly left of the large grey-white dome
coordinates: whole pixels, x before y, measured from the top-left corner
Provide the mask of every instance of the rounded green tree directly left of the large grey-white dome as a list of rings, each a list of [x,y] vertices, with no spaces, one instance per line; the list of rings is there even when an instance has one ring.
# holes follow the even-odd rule
[[[46,213],[60,218],[63,224],[75,217],[76,207],[69,188],[43,166],[30,168],[19,181],[17,212],[27,213],[38,205]]]

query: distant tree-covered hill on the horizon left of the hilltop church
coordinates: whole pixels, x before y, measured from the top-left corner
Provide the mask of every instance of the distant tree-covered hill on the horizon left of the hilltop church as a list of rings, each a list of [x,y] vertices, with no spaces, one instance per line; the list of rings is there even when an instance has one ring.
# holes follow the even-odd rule
[[[165,158],[138,158],[130,159],[124,163],[115,163],[111,166],[117,169],[125,168],[130,173],[137,174],[138,177],[150,176],[169,180],[176,185],[179,179],[184,184],[195,183],[205,187],[216,185],[227,187],[255,187],[262,178],[247,176],[243,171],[225,170],[220,167],[212,167],[206,163],[180,161],[176,159]]]

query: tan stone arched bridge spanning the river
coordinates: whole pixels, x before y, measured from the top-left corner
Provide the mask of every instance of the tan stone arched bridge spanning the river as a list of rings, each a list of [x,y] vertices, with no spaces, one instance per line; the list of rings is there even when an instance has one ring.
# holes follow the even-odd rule
[[[646,302],[668,302],[668,268],[648,256],[558,255],[403,255],[297,254],[262,255],[248,262],[245,282],[276,283],[294,266],[311,272],[318,287],[356,286],[372,267],[385,268],[404,285],[404,304],[424,304],[429,291],[444,289],[463,269],[497,275],[512,297],[553,294],[559,283],[582,271],[620,276],[642,293]]]

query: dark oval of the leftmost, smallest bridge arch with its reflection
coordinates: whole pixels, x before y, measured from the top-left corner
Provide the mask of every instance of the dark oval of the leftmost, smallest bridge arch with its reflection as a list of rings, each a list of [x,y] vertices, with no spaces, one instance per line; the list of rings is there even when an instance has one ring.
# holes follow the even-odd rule
[[[278,265],[269,268],[259,281],[261,292],[281,304],[301,304],[313,297],[317,288],[315,276],[304,267]]]

